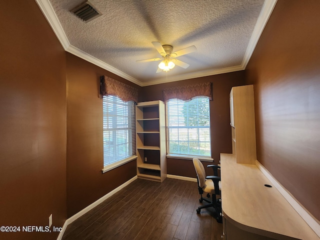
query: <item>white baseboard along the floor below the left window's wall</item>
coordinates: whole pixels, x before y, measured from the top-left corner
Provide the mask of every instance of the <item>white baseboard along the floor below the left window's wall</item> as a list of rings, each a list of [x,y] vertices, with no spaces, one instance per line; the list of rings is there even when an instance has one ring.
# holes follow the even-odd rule
[[[76,220],[77,218],[79,218],[80,216],[82,216],[83,214],[85,214],[86,212],[91,210],[93,207],[97,206],[102,201],[104,201],[108,197],[112,196],[114,193],[116,193],[117,191],[121,190],[123,187],[127,186],[128,184],[130,184],[132,181],[134,181],[137,178],[138,178],[137,176],[132,177],[131,179],[127,180],[123,184],[121,184],[118,187],[114,188],[112,191],[106,193],[104,196],[102,196],[101,198],[97,199],[96,201],[94,201],[93,203],[88,205],[87,207],[85,207],[82,210],[80,210],[79,212],[75,213],[73,216],[71,216],[68,219],[66,219],[64,224],[63,224],[63,226],[62,226],[62,229],[61,229],[58,237],[56,238],[56,240],[61,240],[62,239],[63,233],[64,233],[66,227],[68,226],[68,224],[70,224],[71,222],[73,222],[74,220]]]

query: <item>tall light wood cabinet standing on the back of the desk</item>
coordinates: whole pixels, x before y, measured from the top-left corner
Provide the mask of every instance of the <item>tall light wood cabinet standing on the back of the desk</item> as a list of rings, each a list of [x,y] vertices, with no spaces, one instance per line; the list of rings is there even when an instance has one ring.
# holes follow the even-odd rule
[[[237,163],[255,164],[255,119],[253,85],[235,86],[230,91],[232,154]]]

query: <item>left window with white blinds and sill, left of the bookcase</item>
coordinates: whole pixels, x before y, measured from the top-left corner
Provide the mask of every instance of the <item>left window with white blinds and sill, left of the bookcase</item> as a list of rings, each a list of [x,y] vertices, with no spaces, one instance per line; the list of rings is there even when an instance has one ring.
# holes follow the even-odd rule
[[[109,102],[108,102],[109,100]],[[115,112],[111,112],[111,111],[107,111],[107,104],[115,104]],[[132,108],[131,109],[127,109],[127,113],[131,112],[132,115],[124,115],[123,113],[125,112],[125,105],[126,107],[129,107],[129,104],[131,104]],[[123,107],[124,106],[124,107]],[[122,107],[123,111],[121,112],[122,115],[117,114],[120,110],[120,108]],[[108,115],[108,113],[111,113],[110,115]],[[115,114],[112,114],[115,113]],[[107,117],[111,117],[111,121],[112,123],[110,125],[114,126],[114,128],[106,128],[105,126],[108,125],[107,123]],[[119,117],[121,117],[123,119],[123,124],[126,124],[124,127],[117,127],[117,120],[119,119]],[[102,173],[109,171],[111,169],[114,169],[120,165],[123,165],[129,161],[132,161],[134,159],[137,158],[136,156],[136,142],[135,142],[135,103],[132,101],[123,101],[121,98],[117,97],[117,96],[113,96],[113,95],[105,95],[102,96],[102,131],[103,131],[103,168],[102,168]],[[110,121],[109,121],[110,122]],[[114,123],[116,123],[115,125],[113,125]],[[109,129],[109,130],[108,130]],[[110,130],[112,129],[112,130]],[[119,158],[116,161],[112,161],[109,162],[108,164],[105,164],[105,151],[108,149],[106,147],[106,144],[104,142],[104,135],[107,134],[107,131],[111,131],[113,132],[112,134],[117,135],[118,131],[123,131],[125,130],[125,136],[127,136],[128,138],[130,138],[128,140],[128,142],[124,142],[124,144],[126,144],[126,147],[128,148],[127,150],[129,150],[128,154],[126,154],[123,158]],[[130,133],[131,131],[131,133]],[[128,147],[127,144],[129,144],[131,142],[131,146]],[[120,144],[115,144],[115,147],[117,148]],[[118,148],[116,149],[116,151],[118,150]]]

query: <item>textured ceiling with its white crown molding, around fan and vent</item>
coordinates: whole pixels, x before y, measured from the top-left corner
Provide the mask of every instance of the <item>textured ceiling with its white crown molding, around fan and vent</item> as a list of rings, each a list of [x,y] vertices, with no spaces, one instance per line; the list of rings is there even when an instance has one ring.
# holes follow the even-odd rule
[[[244,69],[275,0],[90,0],[102,13],[85,23],[70,10],[83,0],[36,0],[63,47],[139,85]],[[155,73],[151,41],[190,66]]]

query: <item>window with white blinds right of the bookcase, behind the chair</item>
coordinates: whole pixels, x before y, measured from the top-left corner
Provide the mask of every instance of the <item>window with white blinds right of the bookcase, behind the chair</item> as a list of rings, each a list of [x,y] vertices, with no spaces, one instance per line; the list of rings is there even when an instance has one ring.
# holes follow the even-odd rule
[[[168,154],[211,157],[208,97],[166,102]]]

